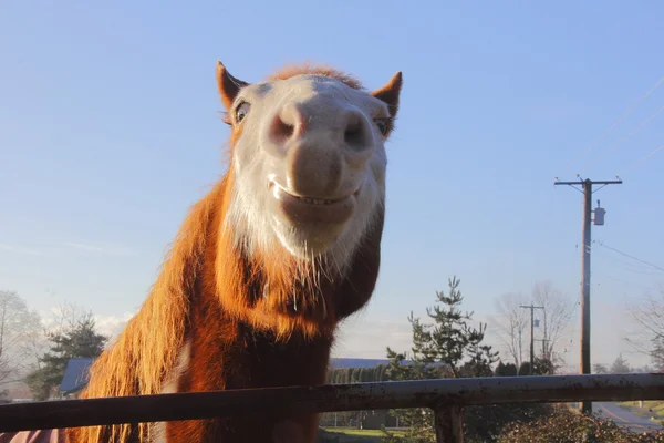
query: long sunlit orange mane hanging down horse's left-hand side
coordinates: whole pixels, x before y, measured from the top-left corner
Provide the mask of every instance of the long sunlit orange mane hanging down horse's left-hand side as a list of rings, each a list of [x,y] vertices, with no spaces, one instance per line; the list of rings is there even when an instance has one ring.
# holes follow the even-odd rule
[[[226,179],[196,203],[180,227],[141,310],[90,369],[80,398],[156,394],[175,365],[187,329],[191,295]],[[142,423],[143,435],[147,424]],[[76,430],[76,441],[102,441],[102,427]],[[125,441],[128,424],[113,426],[110,441]]]

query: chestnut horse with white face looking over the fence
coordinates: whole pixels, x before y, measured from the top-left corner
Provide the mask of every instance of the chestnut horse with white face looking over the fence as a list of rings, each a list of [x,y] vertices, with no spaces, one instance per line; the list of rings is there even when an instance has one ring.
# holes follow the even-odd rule
[[[217,63],[228,168],[196,203],[142,308],[80,398],[320,385],[340,321],[375,289],[385,143],[401,71],[376,90],[328,65],[248,83]],[[312,443],[318,415],[71,427],[69,442]]]

